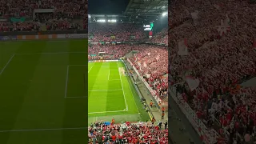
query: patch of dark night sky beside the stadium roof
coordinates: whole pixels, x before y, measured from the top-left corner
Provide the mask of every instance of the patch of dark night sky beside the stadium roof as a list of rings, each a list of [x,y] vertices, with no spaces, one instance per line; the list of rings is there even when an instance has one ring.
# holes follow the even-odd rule
[[[88,0],[88,14],[122,14],[129,0]]]

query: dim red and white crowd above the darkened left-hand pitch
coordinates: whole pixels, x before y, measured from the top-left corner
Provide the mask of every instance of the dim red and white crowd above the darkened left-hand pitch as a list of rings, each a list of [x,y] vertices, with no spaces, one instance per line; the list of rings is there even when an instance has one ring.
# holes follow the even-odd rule
[[[0,22],[0,32],[39,30],[42,23],[47,30],[86,29],[87,7],[86,0],[0,0],[0,18],[8,19]],[[54,12],[36,13],[36,9],[54,9]],[[21,17],[26,21],[10,22],[10,18]]]

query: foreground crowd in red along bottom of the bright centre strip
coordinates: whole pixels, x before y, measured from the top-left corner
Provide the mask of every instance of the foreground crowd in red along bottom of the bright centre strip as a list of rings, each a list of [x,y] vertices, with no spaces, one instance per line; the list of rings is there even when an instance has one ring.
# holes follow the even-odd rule
[[[153,125],[151,122],[124,122],[107,126],[103,122],[94,122],[88,127],[89,143],[150,143],[167,144],[167,122]]]

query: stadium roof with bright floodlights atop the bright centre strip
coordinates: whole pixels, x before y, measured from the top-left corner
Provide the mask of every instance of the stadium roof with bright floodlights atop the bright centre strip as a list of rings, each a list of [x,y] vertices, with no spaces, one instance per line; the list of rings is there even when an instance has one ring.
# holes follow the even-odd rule
[[[89,22],[154,22],[168,12],[168,0],[130,0],[123,14],[90,14]],[[163,14],[163,15],[162,15]]]

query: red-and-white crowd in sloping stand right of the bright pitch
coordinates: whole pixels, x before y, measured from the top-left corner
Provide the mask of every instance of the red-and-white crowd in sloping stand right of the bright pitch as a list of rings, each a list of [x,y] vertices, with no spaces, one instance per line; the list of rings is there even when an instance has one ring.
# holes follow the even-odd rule
[[[163,46],[143,45],[130,59],[159,98],[166,98],[168,89],[168,50]]]

